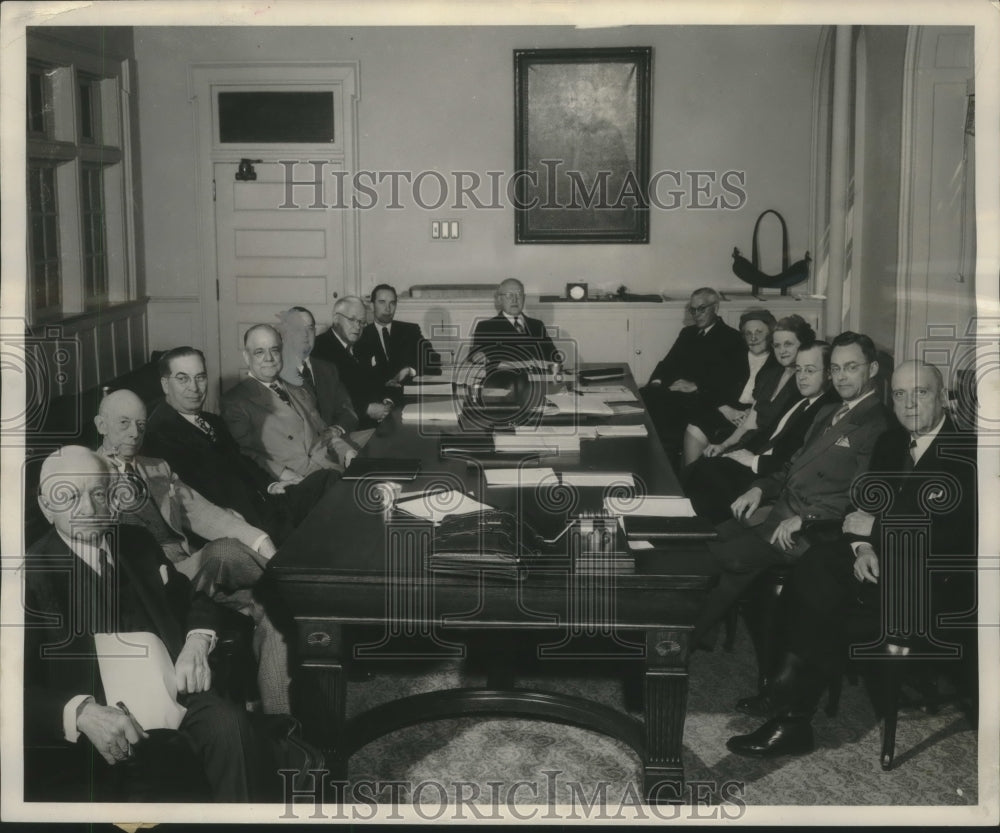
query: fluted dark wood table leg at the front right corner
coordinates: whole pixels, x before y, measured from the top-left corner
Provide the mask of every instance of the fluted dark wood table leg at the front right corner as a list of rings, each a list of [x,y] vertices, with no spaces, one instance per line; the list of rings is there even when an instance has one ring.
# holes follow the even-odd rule
[[[643,789],[650,804],[668,804],[684,797],[689,639],[687,630],[651,630],[646,634]]]

